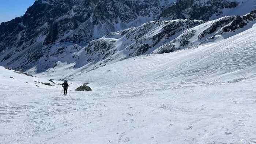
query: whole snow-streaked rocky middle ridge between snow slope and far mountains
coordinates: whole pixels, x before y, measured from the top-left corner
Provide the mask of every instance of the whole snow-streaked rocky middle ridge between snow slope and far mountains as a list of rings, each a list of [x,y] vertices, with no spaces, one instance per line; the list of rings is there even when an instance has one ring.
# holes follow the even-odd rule
[[[91,41],[75,68],[102,65],[142,54],[161,54],[226,39],[252,27],[256,10],[244,16],[200,20],[152,21],[139,27],[112,32]],[[215,38],[216,37],[216,38]],[[83,60],[83,61],[82,61]]]

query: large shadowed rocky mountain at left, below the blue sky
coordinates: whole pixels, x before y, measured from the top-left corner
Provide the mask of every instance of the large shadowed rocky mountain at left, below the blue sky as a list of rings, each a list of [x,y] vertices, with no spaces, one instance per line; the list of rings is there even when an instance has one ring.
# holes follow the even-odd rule
[[[55,47],[84,46],[109,32],[139,26],[156,18],[170,3],[172,0],[37,0],[24,16],[1,23],[1,65],[30,69],[40,58],[52,56],[49,53]]]

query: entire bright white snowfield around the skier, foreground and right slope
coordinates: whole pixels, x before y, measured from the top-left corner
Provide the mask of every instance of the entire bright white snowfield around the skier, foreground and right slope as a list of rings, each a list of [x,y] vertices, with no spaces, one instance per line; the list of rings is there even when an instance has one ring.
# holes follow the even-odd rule
[[[255,31],[84,73],[0,67],[0,143],[256,143]]]

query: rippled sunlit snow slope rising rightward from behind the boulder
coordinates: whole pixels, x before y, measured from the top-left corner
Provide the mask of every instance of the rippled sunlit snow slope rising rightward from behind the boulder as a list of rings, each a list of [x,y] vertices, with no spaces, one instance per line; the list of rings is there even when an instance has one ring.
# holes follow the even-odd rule
[[[246,33],[197,49],[130,58],[89,72],[84,79],[92,80],[101,76],[103,78],[97,80],[101,86],[105,84],[112,88],[140,85],[149,88],[153,84],[155,87],[175,88],[253,78],[256,66],[254,30],[255,27]]]

